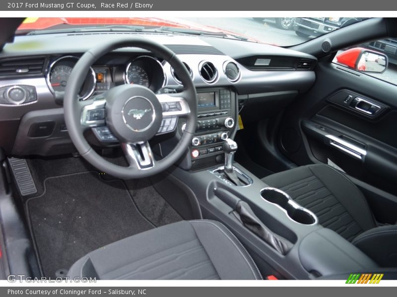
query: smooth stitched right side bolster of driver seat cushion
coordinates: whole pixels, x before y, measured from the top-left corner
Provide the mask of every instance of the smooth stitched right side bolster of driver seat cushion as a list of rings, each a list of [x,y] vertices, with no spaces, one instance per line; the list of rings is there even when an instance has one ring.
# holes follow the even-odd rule
[[[190,223],[221,279],[262,279],[250,254],[224,225],[212,220],[196,220]]]

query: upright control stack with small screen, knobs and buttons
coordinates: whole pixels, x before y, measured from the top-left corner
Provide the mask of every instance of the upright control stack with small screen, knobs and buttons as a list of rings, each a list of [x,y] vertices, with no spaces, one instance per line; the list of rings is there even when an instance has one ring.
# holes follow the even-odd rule
[[[196,133],[189,145],[191,170],[222,163],[222,144],[227,138],[233,138],[237,130],[236,94],[233,91],[228,88],[198,89],[197,98]]]

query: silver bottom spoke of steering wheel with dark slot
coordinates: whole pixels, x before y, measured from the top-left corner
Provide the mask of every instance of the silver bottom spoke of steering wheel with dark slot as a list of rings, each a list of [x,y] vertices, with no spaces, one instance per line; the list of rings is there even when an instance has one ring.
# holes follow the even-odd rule
[[[121,144],[130,167],[147,170],[154,167],[155,161],[148,142],[136,144]]]

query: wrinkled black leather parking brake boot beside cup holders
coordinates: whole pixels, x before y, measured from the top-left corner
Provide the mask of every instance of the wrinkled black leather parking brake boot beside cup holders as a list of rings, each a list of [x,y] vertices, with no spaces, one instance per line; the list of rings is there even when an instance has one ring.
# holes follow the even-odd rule
[[[289,241],[274,234],[262,223],[247,202],[240,200],[236,205],[236,211],[233,213],[245,227],[263,239],[279,253],[285,255],[292,248],[293,245]]]

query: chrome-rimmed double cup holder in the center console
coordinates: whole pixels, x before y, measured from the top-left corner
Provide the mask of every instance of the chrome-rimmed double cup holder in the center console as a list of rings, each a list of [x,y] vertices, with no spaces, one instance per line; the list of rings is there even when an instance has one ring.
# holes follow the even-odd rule
[[[304,225],[314,225],[318,222],[317,216],[313,212],[300,206],[287,193],[279,189],[262,189],[261,196],[266,201],[280,207],[294,222]]]

